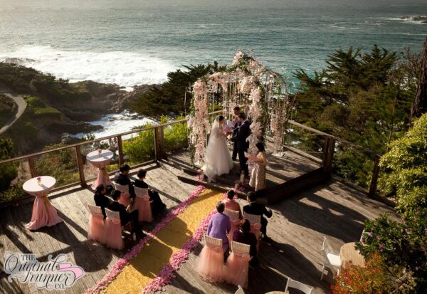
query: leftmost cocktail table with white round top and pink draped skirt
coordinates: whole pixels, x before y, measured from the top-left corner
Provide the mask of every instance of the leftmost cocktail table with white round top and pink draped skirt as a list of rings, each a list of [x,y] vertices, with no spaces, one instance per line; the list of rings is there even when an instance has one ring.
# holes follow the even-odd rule
[[[28,179],[27,182],[23,183],[23,190],[36,197],[31,221],[25,225],[26,229],[34,231],[43,226],[55,226],[63,221],[48,199],[48,192],[51,191],[55,183],[56,179],[49,176]]]

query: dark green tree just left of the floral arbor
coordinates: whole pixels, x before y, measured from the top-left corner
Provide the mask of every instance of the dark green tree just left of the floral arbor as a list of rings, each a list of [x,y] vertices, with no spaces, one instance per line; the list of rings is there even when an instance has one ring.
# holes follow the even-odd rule
[[[160,117],[173,112],[176,115],[189,111],[191,95],[185,101],[186,87],[190,87],[199,78],[207,73],[215,73],[225,70],[225,66],[220,66],[216,61],[214,64],[184,65],[186,70],[175,70],[167,74],[167,82],[162,83],[157,88],[152,88],[147,93],[143,93],[132,103],[132,110],[144,115]]]

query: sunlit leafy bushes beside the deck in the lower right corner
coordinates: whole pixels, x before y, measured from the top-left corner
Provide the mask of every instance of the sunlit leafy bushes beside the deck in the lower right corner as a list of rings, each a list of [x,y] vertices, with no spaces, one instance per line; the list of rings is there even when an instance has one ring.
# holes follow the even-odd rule
[[[354,267],[337,280],[334,293],[423,293],[427,289],[427,114],[401,139],[391,142],[380,160],[379,189],[397,198],[401,221],[382,214],[365,222],[357,248],[374,261],[376,274],[359,275]],[[346,278],[347,277],[347,278]],[[350,278],[349,278],[350,277]],[[355,278],[357,277],[357,278]],[[376,285],[363,292],[364,285]]]

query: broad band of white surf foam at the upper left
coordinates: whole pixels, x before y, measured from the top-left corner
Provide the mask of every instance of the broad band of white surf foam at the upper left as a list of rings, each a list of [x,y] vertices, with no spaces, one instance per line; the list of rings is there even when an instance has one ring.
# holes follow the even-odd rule
[[[162,83],[167,79],[167,73],[176,69],[169,61],[142,53],[61,51],[51,46],[22,46],[15,51],[0,53],[0,61],[8,58],[19,58],[15,61],[21,65],[70,82],[116,83],[127,90],[132,90],[134,85]]]

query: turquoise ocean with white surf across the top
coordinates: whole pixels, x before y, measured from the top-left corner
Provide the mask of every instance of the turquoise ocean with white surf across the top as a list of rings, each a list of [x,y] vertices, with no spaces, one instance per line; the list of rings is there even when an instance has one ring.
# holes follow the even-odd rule
[[[319,70],[337,48],[420,51],[426,1],[0,0],[0,61],[60,78],[126,87],[181,65],[231,63],[237,48],[290,75]]]

